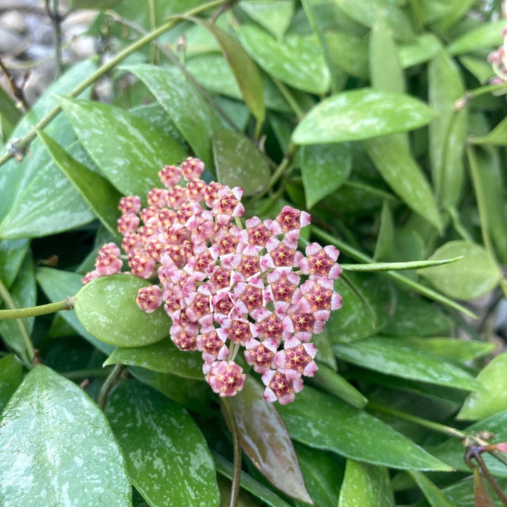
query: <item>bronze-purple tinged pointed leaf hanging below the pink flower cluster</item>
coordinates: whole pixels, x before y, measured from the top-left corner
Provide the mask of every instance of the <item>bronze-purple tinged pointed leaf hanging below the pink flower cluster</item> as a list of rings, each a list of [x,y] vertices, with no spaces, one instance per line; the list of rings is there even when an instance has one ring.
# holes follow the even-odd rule
[[[242,449],[277,489],[292,498],[313,503],[306,491],[298,459],[285,425],[264,389],[251,377],[236,396],[227,400],[236,421]]]

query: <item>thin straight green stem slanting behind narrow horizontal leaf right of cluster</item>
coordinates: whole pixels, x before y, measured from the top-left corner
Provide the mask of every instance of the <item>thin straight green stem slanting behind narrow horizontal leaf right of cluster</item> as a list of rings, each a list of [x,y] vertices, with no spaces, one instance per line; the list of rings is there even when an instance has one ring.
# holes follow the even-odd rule
[[[312,226],[312,232],[315,234],[315,236],[320,237],[321,239],[324,239],[326,242],[329,242],[330,244],[334,244],[334,246],[337,246],[337,248],[341,249],[347,255],[351,256],[352,258],[357,259],[358,261],[361,261],[363,263],[373,263],[373,258],[365,255],[364,253],[354,249],[352,246],[349,246],[345,242],[342,242],[342,240],[338,239],[337,237],[334,237],[329,232],[320,229],[319,227]],[[395,271],[386,271],[385,274],[394,280],[401,282],[403,285],[406,285],[406,287],[410,287],[415,292],[418,292],[419,294],[422,294],[423,296],[426,296],[430,299],[433,299],[434,301],[437,301],[439,303],[444,304],[445,306],[449,306],[450,308],[454,308],[458,311],[461,311],[465,313],[465,315],[469,315],[472,318],[477,318],[477,315],[473,313],[472,311],[468,310],[468,308],[465,308],[464,306],[461,306],[461,304],[456,303],[456,301],[453,301],[452,299],[447,298],[443,294],[440,294],[437,291],[434,291],[433,289],[430,289],[428,287],[425,287],[424,285],[419,284],[418,282],[414,282],[413,280],[410,280],[407,277],[404,277],[403,275],[400,275],[399,273],[396,273]]]

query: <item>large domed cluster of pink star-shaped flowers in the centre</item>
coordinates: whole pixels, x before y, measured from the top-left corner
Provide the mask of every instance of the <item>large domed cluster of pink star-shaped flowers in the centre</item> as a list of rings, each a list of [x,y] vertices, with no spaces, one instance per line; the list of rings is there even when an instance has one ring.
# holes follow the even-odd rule
[[[333,282],[339,251],[317,243],[306,256],[298,251],[310,215],[290,206],[275,220],[249,218],[243,228],[242,189],[208,184],[203,170],[196,158],[167,165],[159,173],[165,188],[149,192],[146,208],[137,196],[120,201],[130,273],[158,275],[159,284],[139,290],[137,304],[148,313],[163,304],[171,339],[183,351],[201,351],[206,380],[220,396],[243,387],[234,362],[243,346],[246,362],[262,375],[265,399],[289,403],[303,388],[301,376],[317,370],[312,335],[342,305]],[[106,244],[83,282],[121,268],[120,250]]]

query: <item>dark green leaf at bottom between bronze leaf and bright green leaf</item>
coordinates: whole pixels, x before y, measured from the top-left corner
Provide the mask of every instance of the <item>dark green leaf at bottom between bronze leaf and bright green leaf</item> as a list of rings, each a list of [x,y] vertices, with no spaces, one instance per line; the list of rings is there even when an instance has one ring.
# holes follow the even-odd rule
[[[311,449],[297,442],[294,443],[294,449],[315,506],[337,507],[345,471],[344,461],[331,453]],[[302,507],[303,503],[296,502],[296,506]]]

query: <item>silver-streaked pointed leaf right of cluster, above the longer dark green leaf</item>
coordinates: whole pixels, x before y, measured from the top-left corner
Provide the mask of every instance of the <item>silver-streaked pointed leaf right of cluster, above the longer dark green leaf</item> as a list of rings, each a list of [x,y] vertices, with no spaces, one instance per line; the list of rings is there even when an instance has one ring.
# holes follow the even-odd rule
[[[468,391],[481,389],[465,370],[420,351],[400,338],[370,337],[361,342],[334,344],[333,349],[344,361],[387,375]]]

